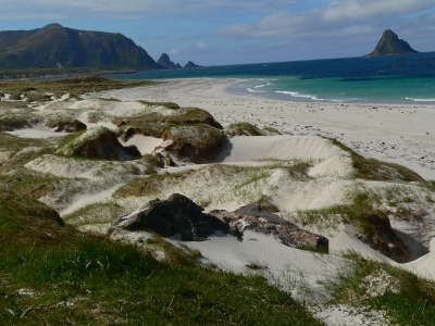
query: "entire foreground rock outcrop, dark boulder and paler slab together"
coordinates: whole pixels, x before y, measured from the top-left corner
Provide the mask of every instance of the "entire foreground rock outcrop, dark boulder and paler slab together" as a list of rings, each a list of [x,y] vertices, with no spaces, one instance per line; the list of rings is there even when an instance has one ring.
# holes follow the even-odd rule
[[[235,212],[203,209],[187,197],[171,195],[167,200],[154,199],[137,212],[123,215],[112,223],[114,228],[130,231],[152,230],[162,237],[181,236],[182,241],[203,241],[216,230],[244,240],[244,231],[272,235],[283,244],[328,251],[328,240],[303,230],[278,215],[264,212],[260,205],[246,205]]]

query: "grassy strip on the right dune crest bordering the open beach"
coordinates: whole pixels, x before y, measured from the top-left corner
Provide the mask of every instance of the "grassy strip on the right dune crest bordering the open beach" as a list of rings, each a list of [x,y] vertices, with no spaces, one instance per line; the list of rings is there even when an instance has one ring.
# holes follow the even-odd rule
[[[380,181],[424,181],[419,174],[405,166],[389,162],[381,162],[375,159],[366,159],[336,139],[330,139],[335,146],[350,153],[352,167],[356,170],[356,178]]]

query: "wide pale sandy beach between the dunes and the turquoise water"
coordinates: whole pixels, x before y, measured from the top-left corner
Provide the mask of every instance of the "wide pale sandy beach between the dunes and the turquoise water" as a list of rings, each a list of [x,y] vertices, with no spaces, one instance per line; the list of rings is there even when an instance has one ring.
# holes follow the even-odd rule
[[[434,105],[279,101],[226,91],[243,82],[165,79],[88,97],[172,101],[183,108],[204,109],[224,126],[248,122],[293,135],[336,138],[364,156],[401,164],[425,179],[435,179]]]

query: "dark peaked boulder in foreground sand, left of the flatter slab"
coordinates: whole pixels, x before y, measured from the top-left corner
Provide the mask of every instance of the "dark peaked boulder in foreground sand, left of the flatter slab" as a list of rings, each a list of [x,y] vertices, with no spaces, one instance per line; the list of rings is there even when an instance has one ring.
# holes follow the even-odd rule
[[[203,241],[215,230],[229,231],[224,221],[202,211],[187,197],[173,193],[167,200],[151,200],[138,212],[116,218],[112,226],[152,230],[162,237],[179,235],[183,241]]]

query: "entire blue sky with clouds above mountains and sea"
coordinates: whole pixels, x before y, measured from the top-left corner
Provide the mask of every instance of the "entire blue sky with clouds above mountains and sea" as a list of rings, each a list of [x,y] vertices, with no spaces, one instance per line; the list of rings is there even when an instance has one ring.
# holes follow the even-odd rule
[[[435,0],[0,0],[0,30],[121,33],[156,61],[200,65],[360,57],[385,29],[435,51]]]

